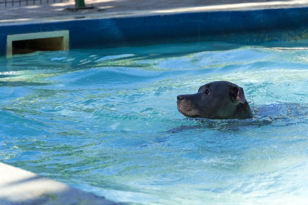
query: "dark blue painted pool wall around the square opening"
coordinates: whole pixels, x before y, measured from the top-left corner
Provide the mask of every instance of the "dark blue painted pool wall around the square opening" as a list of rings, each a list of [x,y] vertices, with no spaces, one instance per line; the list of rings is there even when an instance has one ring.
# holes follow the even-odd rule
[[[6,54],[7,35],[56,30],[69,30],[70,49],[198,41],[260,44],[308,39],[308,7],[1,23],[0,56]]]

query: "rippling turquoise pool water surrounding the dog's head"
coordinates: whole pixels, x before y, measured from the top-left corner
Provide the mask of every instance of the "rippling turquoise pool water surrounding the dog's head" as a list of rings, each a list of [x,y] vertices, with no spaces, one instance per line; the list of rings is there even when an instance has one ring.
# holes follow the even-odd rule
[[[0,60],[0,161],[131,205],[308,201],[307,42],[72,50]],[[243,87],[247,120],[178,94]]]

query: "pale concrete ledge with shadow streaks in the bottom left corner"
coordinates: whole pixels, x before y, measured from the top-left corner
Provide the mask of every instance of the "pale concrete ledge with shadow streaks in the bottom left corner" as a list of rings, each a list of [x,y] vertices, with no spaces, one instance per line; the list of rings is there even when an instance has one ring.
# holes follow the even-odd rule
[[[0,163],[0,205],[123,205]]]

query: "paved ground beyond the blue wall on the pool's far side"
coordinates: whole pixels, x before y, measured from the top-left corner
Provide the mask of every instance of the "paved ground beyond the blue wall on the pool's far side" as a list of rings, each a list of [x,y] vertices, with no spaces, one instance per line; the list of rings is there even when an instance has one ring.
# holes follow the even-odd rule
[[[12,0],[6,0],[12,1]],[[237,10],[278,7],[308,6],[308,0],[85,0],[86,7],[70,11],[74,8],[74,0],[14,0],[14,4],[0,0],[0,23],[25,21],[41,18],[65,19],[78,17],[109,17],[119,15],[149,15],[172,12]],[[41,1],[41,4],[40,4]],[[49,4],[46,2],[49,1]],[[34,2],[34,4],[33,4]]]

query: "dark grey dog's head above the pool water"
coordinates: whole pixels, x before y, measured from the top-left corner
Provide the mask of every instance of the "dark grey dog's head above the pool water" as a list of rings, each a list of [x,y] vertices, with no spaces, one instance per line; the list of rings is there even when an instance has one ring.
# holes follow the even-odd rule
[[[178,110],[186,117],[252,118],[243,88],[227,81],[205,84],[197,93],[178,95],[177,99]]]

